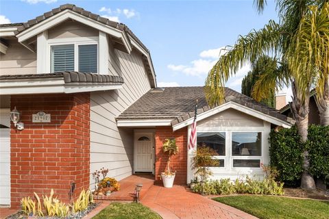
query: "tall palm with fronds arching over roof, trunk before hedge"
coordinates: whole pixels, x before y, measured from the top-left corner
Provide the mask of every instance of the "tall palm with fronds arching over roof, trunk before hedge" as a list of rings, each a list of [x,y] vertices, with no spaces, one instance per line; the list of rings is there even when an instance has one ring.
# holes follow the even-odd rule
[[[269,21],[263,29],[240,36],[233,47],[226,48],[228,52],[219,58],[208,73],[206,99],[211,106],[219,105],[223,101],[226,81],[245,63],[256,62],[267,54],[280,57],[278,70],[261,75],[255,83],[252,96],[259,100],[268,96],[269,87],[278,90],[284,84],[291,84],[291,110],[301,142],[304,143],[308,136],[310,88],[316,86],[321,100],[325,84],[328,83],[329,4],[328,0],[276,2],[280,22]],[[266,0],[256,0],[254,3],[258,12],[262,12]],[[329,107],[329,104],[325,107]],[[314,190],[315,182],[309,173],[308,151],[304,151],[303,162],[301,187]]]

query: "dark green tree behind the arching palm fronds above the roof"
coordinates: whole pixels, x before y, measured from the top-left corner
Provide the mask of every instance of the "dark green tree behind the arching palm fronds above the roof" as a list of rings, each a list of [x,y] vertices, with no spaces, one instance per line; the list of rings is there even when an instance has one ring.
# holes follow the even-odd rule
[[[242,80],[241,83],[241,92],[247,96],[252,97],[252,90],[254,88],[254,84],[263,74],[273,73],[277,68],[276,60],[272,57],[264,55],[260,57],[259,60],[255,64],[252,64],[252,70],[250,70],[247,75]],[[260,99],[261,103],[265,103],[269,107],[275,107],[275,89],[269,87],[269,96],[266,98]]]

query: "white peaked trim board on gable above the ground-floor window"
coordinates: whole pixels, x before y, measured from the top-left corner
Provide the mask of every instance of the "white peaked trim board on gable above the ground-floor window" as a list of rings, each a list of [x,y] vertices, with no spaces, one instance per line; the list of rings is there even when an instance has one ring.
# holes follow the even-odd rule
[[[224,103],[223,105],[219,105],[218,107],[215,107],[211,110],[208,110],[206,112],[203,112],[202,114],[199,114],[197,116],[197,121],[203,120],[204,118],[208,118],[209,116],[218,114],[219,112],[222,112],[224,110],[228,110],[229,108],[232,108],[234,110],[238,110],[240,112],[243,112],[245,114],[248,114],[250,116],[254,116],[256,118],[259,118],[261,120],[267,121],[269,123],[272,123],[274,125],[279,125],[285,128],[290,128],[292,125],[290,123],[284,122],[283,120],[280,120],[278,118],[275,118],[273,116],[269,116],[267,114],[263,114],[262,112],[258,112],[257,110],[250,109],[249,107],[245,107],[244,105],[241,105],[239,103],[235,102],[228,102]],[[188,120],[185,120],[182,123],[178,123],[177,125],[173,125],[173,131],[176,131],[178,129],[182,129],[183,127],[186,127],[188,125],[191,125],[193,123],[194,118],[188,118]]]

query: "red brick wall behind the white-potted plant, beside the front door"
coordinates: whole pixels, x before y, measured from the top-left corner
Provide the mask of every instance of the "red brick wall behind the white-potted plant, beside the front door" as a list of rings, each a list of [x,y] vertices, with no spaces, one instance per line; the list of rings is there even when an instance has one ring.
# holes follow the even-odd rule
[[[187,177],[187,128],[173,132],[172,127],[156,128],[156,183],[160,183],[160,175],[167,166],[168,155],[162,151],[166,138],[175,138],[179,152],[171,157],[171,170],[176,171],[175,184],[186,184]]]

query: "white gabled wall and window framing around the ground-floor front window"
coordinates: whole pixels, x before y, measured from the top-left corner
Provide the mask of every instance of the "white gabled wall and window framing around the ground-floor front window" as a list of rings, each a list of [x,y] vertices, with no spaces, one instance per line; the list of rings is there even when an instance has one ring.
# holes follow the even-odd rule
[[[265,172],[261,168],[233,168],[233,159],[260,159],[263,164],[269,164],[269,132],[271,124],[254,116],[249,116],[238,110],[228,109],[213,116],[200,120],[197,123],[197,132],[225,132],[226,133],[226,155],[217,157],[225,159],[225,167],[210,168],[212,179],[243,179],[247,175],[255,179],[263,179]],[[236,157],[232,155],[232,133],[233,132],[261,132],[262,148],[261,156]],[[191,133],[191,125],[188,127],[188,134]],[[188,163],[191,162],[193,150],[188,151]],[[189,166],[189,164],[188,164]],[[193,179],[193,170],[188,167],[187,183]]]

